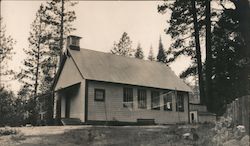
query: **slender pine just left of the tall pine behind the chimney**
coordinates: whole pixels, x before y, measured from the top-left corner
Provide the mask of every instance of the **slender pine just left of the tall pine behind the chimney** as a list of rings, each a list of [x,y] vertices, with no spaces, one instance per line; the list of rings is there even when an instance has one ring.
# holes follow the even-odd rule
[[[17,75],[20,82],[23,83],[23,87],[27,92],[26,97],[29,102],[29,112],[31,113],[31,123],[36,123],[37,117],[37,95],[39,93],[39,87],[42,85],[42,72],[41,62],[44,60],[46,53],[46,46],[44,45],[47,40],[46,24],[42,21],[44,18],[45,7],[41,5],[36,13],[36,18],[31,25],[30,36],[28,38],[29,48],[24,49],[27,57],[24,60],[24,68],[21,73]],[[21,91],[20,91],[21,92]]]

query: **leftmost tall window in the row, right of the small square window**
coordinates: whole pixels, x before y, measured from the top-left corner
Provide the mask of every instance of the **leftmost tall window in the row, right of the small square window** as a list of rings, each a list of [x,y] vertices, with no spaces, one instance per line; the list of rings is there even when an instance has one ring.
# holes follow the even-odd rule
[[[133,107],[133,88],[123,88],[123,107]]]

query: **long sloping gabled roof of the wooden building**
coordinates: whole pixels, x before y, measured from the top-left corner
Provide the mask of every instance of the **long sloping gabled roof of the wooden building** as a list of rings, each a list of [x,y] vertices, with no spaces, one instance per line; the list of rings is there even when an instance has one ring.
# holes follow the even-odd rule
[[[88,49],[68,51],[85,79],[191,92],[163,63]]]

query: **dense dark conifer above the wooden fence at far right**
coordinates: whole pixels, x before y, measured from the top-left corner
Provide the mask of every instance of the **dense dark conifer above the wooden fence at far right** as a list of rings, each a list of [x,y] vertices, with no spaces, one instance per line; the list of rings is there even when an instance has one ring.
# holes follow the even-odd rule
[[[212,90],[208,109],[223,114],[226,103],[244,96],[246,84],[242,84],[244,66],[239,64],[244,55],[245,38],[241,35],[238,11],[225,8],[212,32]],[[245,30],[247,31],[247,29]],[[234,34],[234,35],[232,35]]]

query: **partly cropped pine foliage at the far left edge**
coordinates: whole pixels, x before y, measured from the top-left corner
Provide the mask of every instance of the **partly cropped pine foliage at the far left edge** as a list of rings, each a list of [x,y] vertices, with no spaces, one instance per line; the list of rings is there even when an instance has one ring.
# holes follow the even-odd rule
[[[3,18],[0,17],[0,87],[3,86],[2,78],[8,75],[13,75],[13,71],[8,68],[7,62],[12,58],[14,39],[6,35]]]

